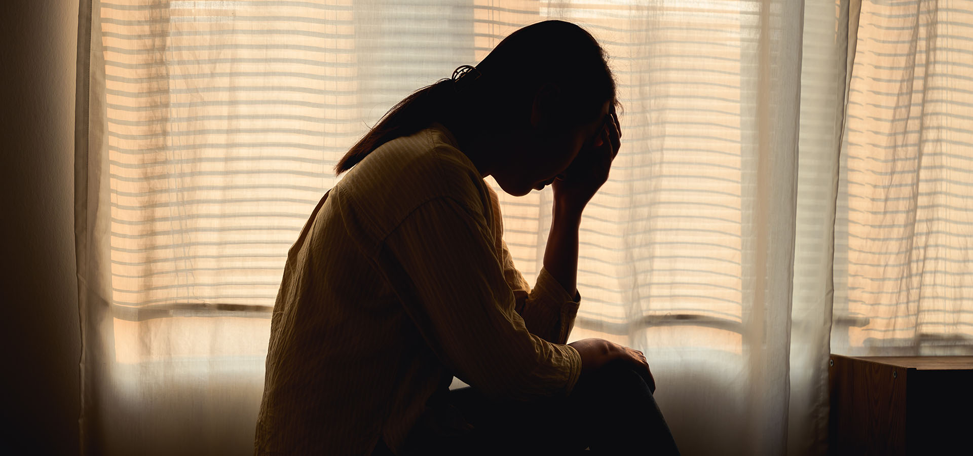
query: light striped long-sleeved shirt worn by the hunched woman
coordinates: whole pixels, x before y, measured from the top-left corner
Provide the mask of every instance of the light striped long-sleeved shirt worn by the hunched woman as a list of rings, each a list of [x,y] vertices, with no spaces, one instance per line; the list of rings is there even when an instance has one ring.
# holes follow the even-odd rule
[[[468,429],[443,401],[453,375],[497,398],[566,395],[580,297],[544,269],[528,290],[496,193],[445,127],[382,145],[288,252],[256,454],[398,452],[414,427]]]

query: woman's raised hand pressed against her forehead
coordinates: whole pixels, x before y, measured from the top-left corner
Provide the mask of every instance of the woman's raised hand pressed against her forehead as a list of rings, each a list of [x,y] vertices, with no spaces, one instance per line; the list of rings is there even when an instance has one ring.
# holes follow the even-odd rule
[[[592,144],[578,153],[578,157],[555,180],[555,201],[561,207],[579,213],[608,180],[612,160],[622,145],[622,129],[615,108],[605,119],[604,127],[597,133]]]

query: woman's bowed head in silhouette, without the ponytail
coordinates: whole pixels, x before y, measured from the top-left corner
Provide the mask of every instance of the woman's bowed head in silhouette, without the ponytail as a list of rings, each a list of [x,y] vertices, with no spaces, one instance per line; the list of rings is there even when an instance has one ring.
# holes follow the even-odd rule
[[[523,27],[477,69],[474,96],[496,132],[489,173],[507,193],[550,183],[596,136],[616,104],[615,81],[595,38],[570,22]],[[492,102],[487,100],[493,100]],[[491,121],[494,121],[491,122]]]

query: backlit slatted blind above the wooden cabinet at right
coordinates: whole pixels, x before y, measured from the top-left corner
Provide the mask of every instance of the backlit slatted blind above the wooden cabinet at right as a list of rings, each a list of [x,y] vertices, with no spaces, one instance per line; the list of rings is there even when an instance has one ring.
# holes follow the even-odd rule
[[[973,344],[973,1],[862,2],[836,227],[833,346]]]

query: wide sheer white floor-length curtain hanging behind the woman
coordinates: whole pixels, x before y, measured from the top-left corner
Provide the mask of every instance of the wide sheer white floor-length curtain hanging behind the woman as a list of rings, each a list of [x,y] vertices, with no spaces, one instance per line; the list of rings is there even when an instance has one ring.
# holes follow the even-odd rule
[[[270,307],[336,160],[545,18],[605,45],[625,105],[572,340],[645,351],[684,454],[822,451],[847,3],[82,3],[89,454],[252,452]],[[532,281],[551,194],[501,201]]]

